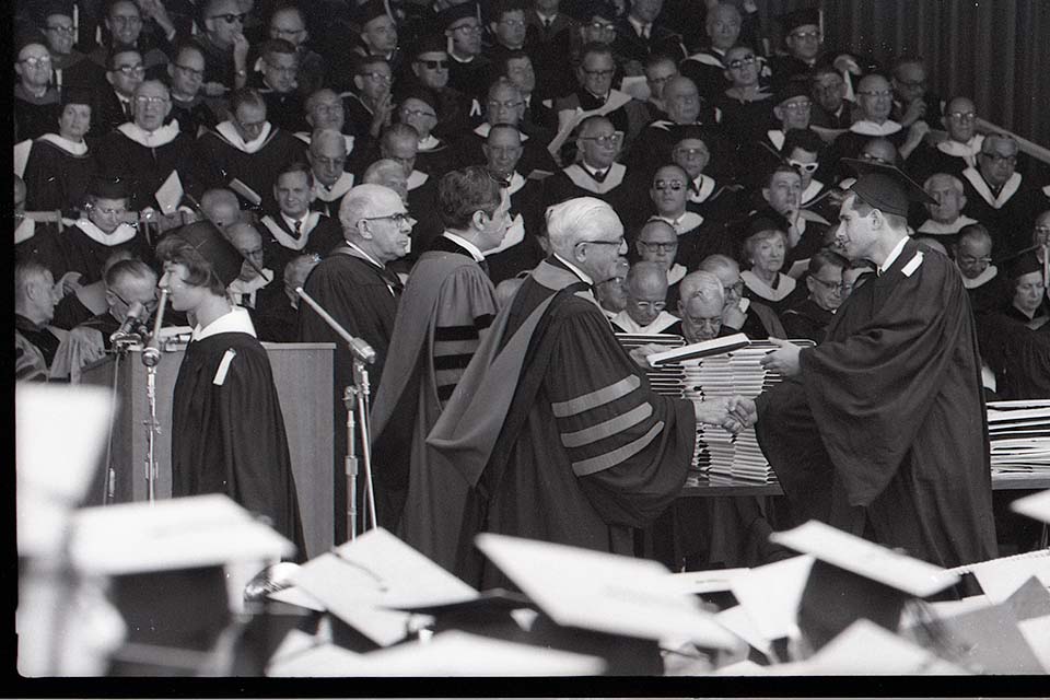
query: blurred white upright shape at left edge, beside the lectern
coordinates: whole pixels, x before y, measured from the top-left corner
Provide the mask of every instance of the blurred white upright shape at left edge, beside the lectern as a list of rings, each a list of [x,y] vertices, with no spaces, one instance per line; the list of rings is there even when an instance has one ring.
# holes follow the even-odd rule
[[[109,393],[20,384],[14,401],[19,555],[54,553],[105,450]]]

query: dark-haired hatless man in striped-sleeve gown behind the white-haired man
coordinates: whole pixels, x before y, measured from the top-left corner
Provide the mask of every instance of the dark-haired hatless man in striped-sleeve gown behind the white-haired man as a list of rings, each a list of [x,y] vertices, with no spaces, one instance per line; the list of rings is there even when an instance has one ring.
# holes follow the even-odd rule
[[[485,252],[506,233],[510,197],[475,165],[441,178],[438,208],[445,230],[405,287],[372,420],[380,524],[451,571],[466,482],[435,475],[452,466],[425,441],[499,311]]]

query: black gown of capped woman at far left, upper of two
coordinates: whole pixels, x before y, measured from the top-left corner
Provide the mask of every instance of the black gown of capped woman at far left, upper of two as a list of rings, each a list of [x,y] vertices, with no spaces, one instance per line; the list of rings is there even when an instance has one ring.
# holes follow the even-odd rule
[[[37,139],[33,142],[23,175],[26,210],[80,209],[97,172],[92,149],[78,155],[55,141]]]

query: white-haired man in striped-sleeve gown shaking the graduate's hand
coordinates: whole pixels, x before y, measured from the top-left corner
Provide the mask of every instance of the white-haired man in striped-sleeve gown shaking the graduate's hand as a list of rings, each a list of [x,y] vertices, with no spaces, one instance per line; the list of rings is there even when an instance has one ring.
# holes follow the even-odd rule
[[[492,324],[428,438],[471,486],[456,573],[500,574],[470,545],[487,532],[622,555],[678,495],[698,420],[738,430],[740,398],[654,394],[591,293],[627,252],[609,205],[571,199],[547,211],[551,255]],[[638,353],[638,359],[644,351]]]

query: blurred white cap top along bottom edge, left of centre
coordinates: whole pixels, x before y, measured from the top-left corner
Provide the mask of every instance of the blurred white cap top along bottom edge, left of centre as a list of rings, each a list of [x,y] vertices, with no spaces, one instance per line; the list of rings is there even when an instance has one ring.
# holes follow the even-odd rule
[[[369,654],[320,646],[270,676],[598,676],[600,658],[450,631]]]

